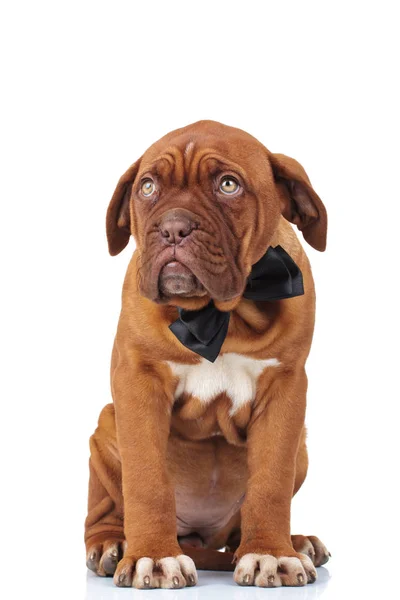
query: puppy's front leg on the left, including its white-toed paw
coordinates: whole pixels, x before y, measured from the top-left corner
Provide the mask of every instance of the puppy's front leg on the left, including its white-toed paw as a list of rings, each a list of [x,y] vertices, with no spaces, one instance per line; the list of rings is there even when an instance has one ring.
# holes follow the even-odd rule
[[[127,541],[114,575],[118,586],[180,588],[197,582],[195,565],[177,541],[167,473],[173,403],[168,371],[127,355],[112,376]]]

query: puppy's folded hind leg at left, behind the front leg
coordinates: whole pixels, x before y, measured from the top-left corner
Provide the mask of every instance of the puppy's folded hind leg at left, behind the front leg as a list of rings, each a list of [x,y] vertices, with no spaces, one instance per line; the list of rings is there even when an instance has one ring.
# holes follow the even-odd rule
[[[90,438],[89,500],[85,521],[87,567],[113,575],[124,553],[121,463],[115,434],[114,407],[108,404]]]

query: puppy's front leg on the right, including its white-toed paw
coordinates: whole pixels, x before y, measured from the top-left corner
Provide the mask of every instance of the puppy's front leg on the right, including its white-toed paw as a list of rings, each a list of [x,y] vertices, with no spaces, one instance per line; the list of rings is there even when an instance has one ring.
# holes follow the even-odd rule
[[[312,561],[293,549],[290,505],[304,426],[307,377],[282,374],[258,397],[247,432],[249,480],[241,509],[234,578],[240,585],[298,586],[315,581]]]

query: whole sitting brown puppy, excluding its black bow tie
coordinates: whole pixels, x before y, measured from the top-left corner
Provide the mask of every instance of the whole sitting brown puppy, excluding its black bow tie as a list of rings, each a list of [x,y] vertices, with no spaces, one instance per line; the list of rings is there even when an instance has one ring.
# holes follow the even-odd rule
[[[305,585],[328,553],[290,535],[307,472],[304,365],[314,285],[288,221],[325,249],[325,208],[299,163],[247,133],[200,121],[166,135],[120,179],[111,254],[132,234],[111,364],[113,404],[91,438],[88,567],[119,586],[194,585],[200,568],[242,585]],[[304,295],[243,297],[280,245]],[[230,311],[214,363],[169,329],[178,309]],[[217,549],[228,547],[227,552]],[[233,555],[232,552],[235,552]]]

